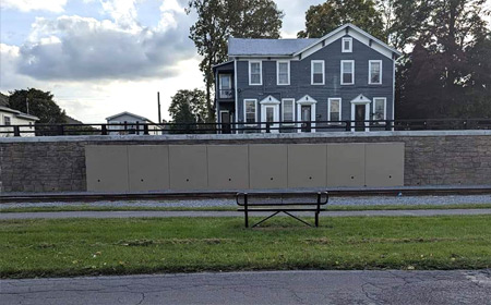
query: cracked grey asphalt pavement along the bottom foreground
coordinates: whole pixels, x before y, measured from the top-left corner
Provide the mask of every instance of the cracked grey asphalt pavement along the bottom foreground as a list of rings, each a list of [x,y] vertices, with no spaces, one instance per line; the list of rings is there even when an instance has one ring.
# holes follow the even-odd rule
[[[2,304],[491,304],[491,270],[1,280]]]

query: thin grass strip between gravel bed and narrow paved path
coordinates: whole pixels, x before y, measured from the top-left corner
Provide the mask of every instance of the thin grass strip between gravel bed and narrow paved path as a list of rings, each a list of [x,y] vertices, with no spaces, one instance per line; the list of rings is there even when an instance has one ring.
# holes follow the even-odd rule
[[[1,207],[1,206],[0,206]],[[417,210],[417,209],[489,209],[490,204],[457,204],[457,205],[378,205],[378,206],[330,206],[327,210],[345,211],[345,210]],[[185,210],[202,210],[202,211],[230,211],[237,210],[237,207],[108,207],[94,205],[65,205],[60,207],[15,207],[15,208],[0,208],[0,212],[39,212],[39,211],[137,211],[137,210],[165,210],[165,211],[185,211]]]

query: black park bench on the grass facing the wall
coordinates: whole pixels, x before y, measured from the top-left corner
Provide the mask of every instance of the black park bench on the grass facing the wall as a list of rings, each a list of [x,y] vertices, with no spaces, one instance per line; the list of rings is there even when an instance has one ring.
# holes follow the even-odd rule
[[[249,228],[250,212],[273,212],[268,217],[253,224],[258,227],[270,218],[283,212],[298,221],[313,227],[309,222],[292,215],[292,212],[313,211],[315,216],[315,227],[319,227],[319,213],[325,210],[330,200],[327,192],[289,192],[289,193],[237,193],[236,202],[239,206],[238,211],[243,211],[246,228]]]

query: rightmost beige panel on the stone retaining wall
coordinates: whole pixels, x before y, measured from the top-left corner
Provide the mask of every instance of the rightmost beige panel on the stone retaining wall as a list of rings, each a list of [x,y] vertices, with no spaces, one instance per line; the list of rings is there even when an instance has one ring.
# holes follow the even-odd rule
[[[404,143],[366,144],[367,186],[404,185]]]

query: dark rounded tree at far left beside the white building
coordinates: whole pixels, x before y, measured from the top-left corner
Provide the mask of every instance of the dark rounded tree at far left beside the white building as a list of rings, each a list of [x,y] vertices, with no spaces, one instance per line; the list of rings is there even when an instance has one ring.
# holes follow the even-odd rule
[[[65,112],[53,100],[50,91],[35,88],[10,91],[9,107],[39,118],[38,124],[67,123]],[[28,103],[28,111],[27,111]]]

